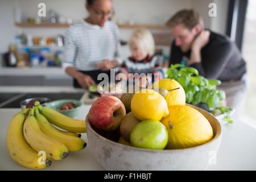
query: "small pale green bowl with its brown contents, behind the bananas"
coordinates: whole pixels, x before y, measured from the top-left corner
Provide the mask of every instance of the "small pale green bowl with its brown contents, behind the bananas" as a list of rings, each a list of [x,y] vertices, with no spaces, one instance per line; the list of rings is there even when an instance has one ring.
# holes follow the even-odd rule
[[[59,113],[67,115],[68,117],[75,118],[79,114],[81,108],[81,102],[79,100],[56,100],[47,102],[46,106],[57,110]]]

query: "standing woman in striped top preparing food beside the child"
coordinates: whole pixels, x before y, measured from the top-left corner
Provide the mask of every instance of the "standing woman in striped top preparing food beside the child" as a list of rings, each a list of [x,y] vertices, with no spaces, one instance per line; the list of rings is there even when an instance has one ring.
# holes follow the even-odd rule
[[[108,21],[112,0],[87,0],[89,16],[73,24],[65,35],[63,67],[74,78],[74,86],[87,89],[97,84],[97,76],[119,65],[118,27]]]

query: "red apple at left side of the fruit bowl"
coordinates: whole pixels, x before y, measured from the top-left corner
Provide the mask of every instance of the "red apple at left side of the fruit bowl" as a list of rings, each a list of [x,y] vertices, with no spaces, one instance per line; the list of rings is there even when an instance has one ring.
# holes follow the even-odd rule
[[[90,107],[89,121],[92,126],[102,131],[113,131],[125,116],[125,105],[119,98],[104,96],[98,98]]]

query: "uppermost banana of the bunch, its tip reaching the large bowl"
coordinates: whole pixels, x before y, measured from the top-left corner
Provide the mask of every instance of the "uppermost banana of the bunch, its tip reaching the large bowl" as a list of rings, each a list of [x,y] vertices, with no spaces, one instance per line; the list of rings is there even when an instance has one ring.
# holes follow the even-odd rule
[[[58,111],[51,109],[47,106],[39,105],[40,113],[47,118],[47,120],[53,125],[60,127],[61,129],[72,131],[75,133],[85,133],[86,126],[85,121],[80,119],[73,119],[59,113]]]

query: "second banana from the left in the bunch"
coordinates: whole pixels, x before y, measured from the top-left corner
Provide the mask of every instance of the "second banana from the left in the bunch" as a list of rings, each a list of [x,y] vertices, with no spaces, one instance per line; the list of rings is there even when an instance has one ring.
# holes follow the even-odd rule
[[[40,130],[40,126],[34,117],[33,107],[30,109],[26,121],[24,122],[23,134],[28,144],[34,148],[35,151],[44,151],[51,159],[60,160],[68,156],[68,148],[61,142],[51,137]]]

